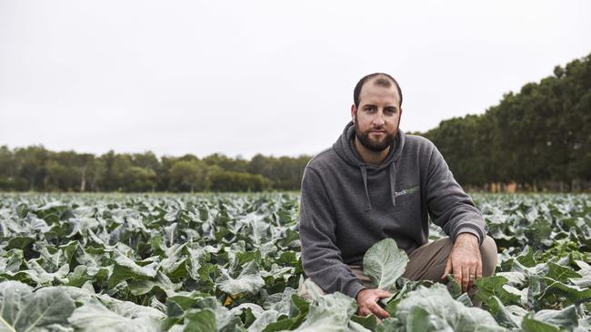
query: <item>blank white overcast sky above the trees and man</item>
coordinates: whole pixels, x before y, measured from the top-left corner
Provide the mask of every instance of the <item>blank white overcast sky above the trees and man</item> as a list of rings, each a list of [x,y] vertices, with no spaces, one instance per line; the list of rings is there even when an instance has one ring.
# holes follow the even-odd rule
[[[482,113],[591,53],[581,1],[0,0],[0,145],[314,154],[366,73],[401,128]]]

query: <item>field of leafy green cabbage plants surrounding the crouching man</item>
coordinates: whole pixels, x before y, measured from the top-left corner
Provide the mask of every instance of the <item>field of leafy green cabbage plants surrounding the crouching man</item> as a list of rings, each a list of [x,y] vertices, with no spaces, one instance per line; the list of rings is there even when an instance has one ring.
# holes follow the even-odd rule
[[[472,297],[398,278],[404,253],[379,242],[364,263],[395,293],[379,322],[297,295],[295,193],[0,193],[0,332],[591,330],[591,196],[474,198],[495,276]]]

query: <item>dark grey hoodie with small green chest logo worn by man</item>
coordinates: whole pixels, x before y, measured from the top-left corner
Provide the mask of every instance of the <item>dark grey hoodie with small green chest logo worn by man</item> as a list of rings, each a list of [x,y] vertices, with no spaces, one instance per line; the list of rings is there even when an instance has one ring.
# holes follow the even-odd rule
[[[320,288],[356,298],[364,286],[348,266],[363,265],[380,239],[395,239],[407,253],[425,244],[429,217],[454,241],[469,232],[482,243],[485,222],[432,142],[398,130],[375,166],[361,160],[354,135],[349,122],[333,147],[308,163],[302,180],[302,263]]]

